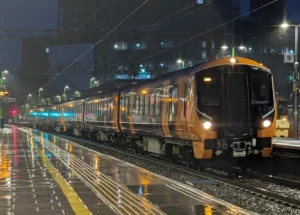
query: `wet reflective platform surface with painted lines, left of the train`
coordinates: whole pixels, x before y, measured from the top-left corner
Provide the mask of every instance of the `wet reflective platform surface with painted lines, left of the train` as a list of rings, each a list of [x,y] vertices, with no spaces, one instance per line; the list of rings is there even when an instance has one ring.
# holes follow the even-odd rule
[[[0,214],[251,214],[31,129],[3,130],[0,165]]]

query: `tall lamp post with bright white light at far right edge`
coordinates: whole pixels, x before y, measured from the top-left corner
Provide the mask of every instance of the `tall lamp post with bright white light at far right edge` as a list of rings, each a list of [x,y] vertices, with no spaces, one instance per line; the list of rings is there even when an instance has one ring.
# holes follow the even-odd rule
[[[287,23],[283,23],[281,25],[282,28],[288,28],[289,26],[295,27],[295,64],[294,64],[294,88],[295,90],[295,107],[294,107],[294,135],[295,138],[298,139],[298,88],[299,88],[299,74],[298,74],[298,32],[299,32],[299,26],[300,25],[289,25]]]

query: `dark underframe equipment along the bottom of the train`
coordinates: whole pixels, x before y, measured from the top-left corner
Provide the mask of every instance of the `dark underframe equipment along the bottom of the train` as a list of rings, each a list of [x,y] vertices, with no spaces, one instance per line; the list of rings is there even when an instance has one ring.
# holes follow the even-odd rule
[[[212,150],[212,159],[196,159],[192,141],[142,137],[124,133],[103,132],[87,127],[63,127],[61,125],[33,125],[43,131],[66,133],[96,142],[109,142],[121,148],[130,149],[139,154],[161,156],[172,161],[185,162],[188,165],[232,167],[244,163],[248,158],[261,158],[262,151],[271,147],[271,138],[206,140],[205,149]]]

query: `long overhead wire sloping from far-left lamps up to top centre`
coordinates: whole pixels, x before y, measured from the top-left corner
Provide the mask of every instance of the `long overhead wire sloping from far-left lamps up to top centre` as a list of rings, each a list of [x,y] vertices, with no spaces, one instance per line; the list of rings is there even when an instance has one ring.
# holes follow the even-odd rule
[[[119,24],[117,24],[115,27],[113,27],[107,34],[105,34],[101,39],[99,39],[92,47],[88,48],[83,54],[81,54],[79,57],[77,57],[69,66],[67,66],[65,69],[63,69],[59,74],[54,76],[51,80],[49,80],[46,84],[39,87],[37,90],[32,92],[31,94],[34,94],[38,92],[40,88],[44,88],[45,86],[49,85],[52,81],[54,81],[56,78],[58,78],[62,73],[67,71],[71,66],[73,66],[79,59],[81,59],[84,55],[86,55],[89,51],[91,51],[94,47],[96,47],[101,41],[103,41],[107,36],[109,36],[112,32],[114,32],[119,26],[121,26],[126,20],[128,20],[133,14],[135,14],[140,8],[142,8],[149,0],[145,0],[143,3],[141,3],[137,8],[135,8],[127,17],[125,17]],[[22,98],[25,98],[26,96],[23,96]]]

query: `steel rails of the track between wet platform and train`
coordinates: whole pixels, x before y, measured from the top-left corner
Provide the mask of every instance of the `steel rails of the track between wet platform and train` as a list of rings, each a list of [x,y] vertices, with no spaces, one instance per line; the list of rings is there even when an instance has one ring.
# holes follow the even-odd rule
[[[268,200],[277,202],[277,203],[282,204],[282,205],[286,205],[286,206],[290,206],[290,207],[293,207],[293,208],[300,209],[300,201],[297,200],[297,199],[289,198],[289,197],[286,197],[286,196],[283,196],[283,195],[280,195],[280,194],[262,189],[260,187],[250,186],[250,185],[247,185],[245,183],[238,182],[234,179],[229,179],[228,177],[221,177],[221,176],[217,176],[217,175],[210,174],[210,173],[207,173],[207,172],[202,172],[202,171],[195,170],[195,169],[192,169],[192,168],[184,167],[182,165],[167,162],[167,161],[164,161],[164,160],[161,160],[161,159],[157,159],[157,158],[153,158],[153,157],[149,157],[149,156],[142,156],[142,155],[136,154],[134,152],[130,152],[130,151],[127,151],[127,150],[122,150],[122,149],[119,149],[119,148],[116,148],[116,147],[113,147],[113,146],[109,146],[108,144],[99,144],[99,143],[93,142],[91,140],[80,139],[80,138],[77,138],[77,137],[67,136],[67,135],[64,135],[64,134],[58,134],[58,133],[52,133],[52,132],[45,132],[45,133],[55,135],[57,137],[60,137],[62,139],[68,140],[68,141],[74,141],[77,144],[83,145],[85,147],[86,146],[93,146],[93,147],[96,147],[96,148],[102,148],[102,149],[106,149],[108,151],[120,153],[120,154],[123,154],[123,155],[126,155],[126,156],[131,156],[131,157],[136,158],[136,159],[141,159],[141,160],[144,160],[144,161],[153,162],[157,165],[165,166],[166,168],[172,168],[172,169],[174,169],[176,171],[180,171],[182,173],[188,173],[188,174],[191,174],[193,176],[197,176],[197,177],[200,177],[200,178],[203,178],[203,179],[206,179],[206,180],[214,181],[217,184],[223,184],[223,185],[226,185],[226,186],[234,187],[235,189],[238,190],[238,192],[247,192],[247,193],[250,193],[252,195],[256,195],[256,196],[259,196],[259,197],[262,197],[262,198],[266,198]],[[254,173],[254,172],[249,173],[249,174],[251,174],[252,177],[255,177],[255,178],[260,179],[260,180],[267,180],[268,179],[269,181],[272,180],[272,182],[279,183],[281,185],[290,186],[290,187],[300,189],[300,182],[298,182],[298,181],[293,181],[293,180],[279,178],[279,177],[272,177],[272,176],[267,177],[266,175],[260,175],[259,173]]]

